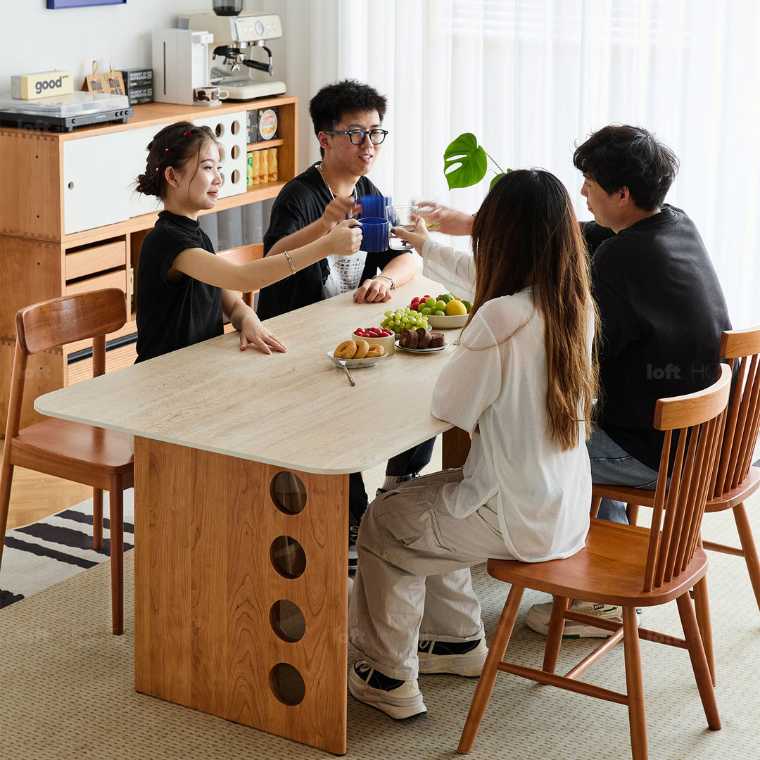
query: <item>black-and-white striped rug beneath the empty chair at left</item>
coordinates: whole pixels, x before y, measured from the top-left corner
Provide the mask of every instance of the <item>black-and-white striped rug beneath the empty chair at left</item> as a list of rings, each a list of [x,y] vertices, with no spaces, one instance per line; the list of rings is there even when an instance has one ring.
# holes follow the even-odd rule
[[[124,550],[135,543],[134,490],[124,492]],[[93,502],[88,499],[57,515],[5,535],[0,569],[0,607],[99,565],[111,554],[108,494],[103,494],[103,549],[93,549]]]

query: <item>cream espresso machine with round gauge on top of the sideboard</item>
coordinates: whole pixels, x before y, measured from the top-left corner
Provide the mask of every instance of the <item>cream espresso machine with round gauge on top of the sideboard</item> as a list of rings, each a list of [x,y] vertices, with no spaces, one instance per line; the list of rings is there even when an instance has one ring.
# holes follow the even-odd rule
[[[180,14],[179,27],[214,36],[214,43],[208,47],[208,79],[227,90],[231,99],[253,100],[285,93],[285,83],[273,77],[272,53],[264,44],[282,36],[277,14]],[[269,74],[268,78],[261,72]]]

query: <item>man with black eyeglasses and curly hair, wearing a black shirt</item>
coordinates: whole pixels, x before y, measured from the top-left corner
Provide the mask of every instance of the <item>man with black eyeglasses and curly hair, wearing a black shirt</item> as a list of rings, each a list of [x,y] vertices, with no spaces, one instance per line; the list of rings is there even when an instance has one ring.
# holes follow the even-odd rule
[[[264,234],[264,255],[275,255],[312,242],[346,217],[359,213],[363,195],[382,195],[368,174],[388,130],[382,128],[387,101],[368,84],[356,80],[325,85],[309,102],[321,161],[280,190]],[[353,291],[357,304],[388,301],[393,290],[417,271],[412,253],[392,251],[353,256],[328,256],[297,271],[258,294],[257,313],[268,319],[339,293]],[[364,324],[357,312],[356,325]],[[383,489],[415,477],[429,463],[433,440],[388,461]],[[359,519],[367,506],[361,473],[350,477],[349,564],[353,567]]]

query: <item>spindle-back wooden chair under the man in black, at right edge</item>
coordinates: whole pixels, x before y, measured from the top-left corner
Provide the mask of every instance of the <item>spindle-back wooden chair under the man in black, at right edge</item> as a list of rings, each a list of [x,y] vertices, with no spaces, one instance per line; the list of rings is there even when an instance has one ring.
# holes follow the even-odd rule
[[[760,610],[760,559],[744,505],[760,486],[760,470],[752,458],[760,429],[760,327],[729,330],[720,337],[720,356],[727,359],[735,380],[726,414],[723,440],[711,474],[705,512],[732,510],[740,548],[702,539],[702,547],[743,557],[749,572],[755,602]],[[638,508],[651,507],[654,492],[621,486],[594,486],[594,498],[627,503],[629,523],[636,524]],[[598,502],[597,502],[598,503]],[[692,592],[702,642],[708,657],[713,684],[716,682],[708,581],[703,578]]]

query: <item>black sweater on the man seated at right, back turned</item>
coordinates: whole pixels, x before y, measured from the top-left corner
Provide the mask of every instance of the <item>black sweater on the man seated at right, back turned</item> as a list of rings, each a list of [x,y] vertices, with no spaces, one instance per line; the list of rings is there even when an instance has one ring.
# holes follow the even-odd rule
[[[657,470],[664,434],[658,398],[693,393],[717,379],[726,300],[695,224],[679,208],[614,234],[582,224],[592,251],[601,318],[600,427]]]

